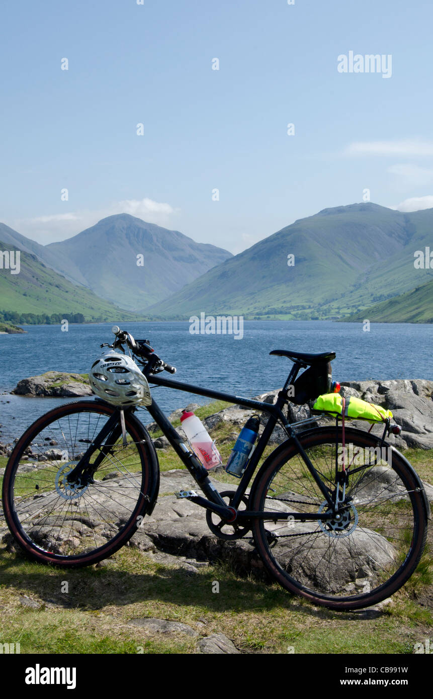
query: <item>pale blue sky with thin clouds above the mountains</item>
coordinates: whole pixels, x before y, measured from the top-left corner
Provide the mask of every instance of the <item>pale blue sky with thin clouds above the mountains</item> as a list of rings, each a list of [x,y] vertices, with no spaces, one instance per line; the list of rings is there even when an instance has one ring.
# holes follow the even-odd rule
[[[0,221],[41,243],[127,211],[240,252],[365,188],[433,206],[430,1],[24,0],[0,17]],[[390,77],[340,73],[350,51],[391,55]]]

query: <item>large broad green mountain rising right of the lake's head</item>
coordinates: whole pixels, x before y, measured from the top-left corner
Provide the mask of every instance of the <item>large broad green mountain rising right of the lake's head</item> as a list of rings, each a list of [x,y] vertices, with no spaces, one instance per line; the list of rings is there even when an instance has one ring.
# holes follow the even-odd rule
[[[333,318],[427,280],[414,253],[430,244],[433,209],[402,213],[374,203],[320,211],[227,259],[146,311]],[[288,255],[294,255],[289,266]]]

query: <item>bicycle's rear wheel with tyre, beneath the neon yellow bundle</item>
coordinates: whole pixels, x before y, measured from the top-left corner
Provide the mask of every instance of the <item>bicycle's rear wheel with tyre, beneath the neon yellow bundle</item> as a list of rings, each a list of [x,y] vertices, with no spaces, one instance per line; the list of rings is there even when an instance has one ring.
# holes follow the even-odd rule
[[[334,494],[341,471],[341,428],[298,435],[301,446]],[[427,537],[420,480],[399,452],[367,432],[346,428],[346,489],[339,516],[300,521],[253,521],[257,550],[285,589],[336,610],[374,605],[412,575]],[[287,442],[260,469],[252,510],[329,513],[327,500],[297,447]],[[269,518],[270,519],[270,518]]]

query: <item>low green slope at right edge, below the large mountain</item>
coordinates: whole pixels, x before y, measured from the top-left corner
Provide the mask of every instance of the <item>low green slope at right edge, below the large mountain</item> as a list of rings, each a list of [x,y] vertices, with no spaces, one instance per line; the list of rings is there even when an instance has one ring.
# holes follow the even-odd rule
[[[375,323],[433,323],[433,279],[341,321],[363,322],[367,318]]]

